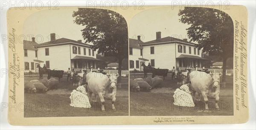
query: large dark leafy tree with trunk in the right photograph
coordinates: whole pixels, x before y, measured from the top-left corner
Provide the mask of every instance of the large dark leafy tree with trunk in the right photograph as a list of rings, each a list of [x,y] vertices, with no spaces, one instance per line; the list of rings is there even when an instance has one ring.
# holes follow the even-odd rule
[[[190,41],[198,42],[203,53],[221,56],[225,81],[227,58],[233,57],[234,28],[231,17],[213,8],[185,7],[178,15],[180,22],[191,25],[187,28]]]

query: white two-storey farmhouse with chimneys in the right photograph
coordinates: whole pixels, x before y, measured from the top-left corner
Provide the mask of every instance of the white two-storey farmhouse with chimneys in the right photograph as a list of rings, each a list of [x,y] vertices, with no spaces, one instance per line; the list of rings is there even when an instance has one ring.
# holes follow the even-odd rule
[[[129,41],[131,43],[131,40]],[[175,68],[179,67],[182,70],[195,68],[196,65],[198,68],[206,66],[208,59],[202,58],[202,50],[196,48],[195,45],[195,43],[189,42],[187,39],[182,40],[170,36],[161,38],[161,32],[156,32],[155,40],[144,43],[140,42],[138,45],[138,48],[141,47],[140,49],[142,50],[141,55],[136,53],[136,56],[129,56],[130,70],[134,68],[134,66],[131,66],[131,63],[140,59],[145,61],[146,66],[148,63],[151,63],[152,67],[169,70],[173,66]],[[134,51],[134,47],[132,48]],[[141,68],[141,66],[136,67]]]

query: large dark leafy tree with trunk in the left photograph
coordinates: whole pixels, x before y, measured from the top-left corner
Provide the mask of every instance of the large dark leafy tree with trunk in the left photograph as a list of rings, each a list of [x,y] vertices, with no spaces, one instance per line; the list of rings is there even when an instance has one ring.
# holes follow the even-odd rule
[[[73,17],[76,24],[84,26],[81,31],[86,43],[93,43],[92,48],[98,50],[98,54],[118,59],[121,75],[122,60],[128,58],[128,27],[124,17],[114,11],[94,8],[78,8]]]

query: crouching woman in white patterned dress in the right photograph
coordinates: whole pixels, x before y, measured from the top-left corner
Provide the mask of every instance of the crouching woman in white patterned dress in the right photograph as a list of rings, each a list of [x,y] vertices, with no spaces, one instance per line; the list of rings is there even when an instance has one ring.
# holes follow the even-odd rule
[[[195,103],[193,102],[192,96],[189,92],[189,86],[191,85],[190,81],[187,81],[186,84],[180,86],[179,89],[176,89],[174,92],[174,105],[177,106],[187,106],[194,107]]]

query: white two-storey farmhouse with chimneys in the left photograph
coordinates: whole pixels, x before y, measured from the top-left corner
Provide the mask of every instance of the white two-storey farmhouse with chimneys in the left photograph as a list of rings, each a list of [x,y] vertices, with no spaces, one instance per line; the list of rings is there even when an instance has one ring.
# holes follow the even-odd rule
[[[102,63],[89,44],[81,40],[55,39],[55,33],[50,36],[51,40],[42,44],[37,44],[35,38],[24,41],[25,69],[35,70],[36,65],[41,63],[41,67],[46,64],[49,69],[67,71],[68,68],[74,68],[80,72],[91,67],[97,68],[96,64]]]

